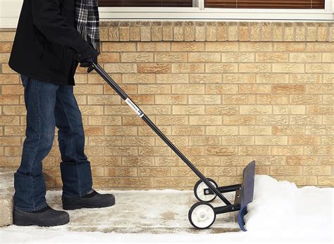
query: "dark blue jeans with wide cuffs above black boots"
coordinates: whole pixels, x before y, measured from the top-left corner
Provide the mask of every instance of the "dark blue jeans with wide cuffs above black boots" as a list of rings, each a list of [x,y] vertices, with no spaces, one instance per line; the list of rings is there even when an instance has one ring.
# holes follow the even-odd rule
[[[58,128],[63,196],[81,197],[92,190],[85,133],[72,85],[54,85],[21,75],[25,87],[27,128],[20,167],[14,174],[14,207],[27,212],[47,206],[42,160]]]

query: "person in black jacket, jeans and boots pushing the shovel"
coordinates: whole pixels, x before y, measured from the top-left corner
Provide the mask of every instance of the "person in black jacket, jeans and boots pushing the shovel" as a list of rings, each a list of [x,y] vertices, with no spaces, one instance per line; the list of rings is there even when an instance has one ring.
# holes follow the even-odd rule
[[[112,194],[92,188],[90,162],[84,152],[82,116],[73,94],[80,66],[92,71],[99,55],[97,0],[25,0],[9,66],[20,74],[27,124],[20,166],[14,174],[13,222],[19,226],[58,226],[65,211],[47,204],[42,161],[58,128],[63,209],[109,207]]]

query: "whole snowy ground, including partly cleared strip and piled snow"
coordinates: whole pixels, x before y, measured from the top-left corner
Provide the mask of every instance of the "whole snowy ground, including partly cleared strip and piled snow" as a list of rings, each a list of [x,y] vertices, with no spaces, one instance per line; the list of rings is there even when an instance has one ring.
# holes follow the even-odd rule
[[[66,226],[0,228],[0,243],[333,243],[334,239],[333,188],[297,188],[294,183],[256,176],[254,202],[245,216],[247,232],[237,231],[236,213],[218,215],[211,230],[194,230],[187,221],[188,209],[196,202],[191,191],[111,193],[116,195],[114,207],[69,211],[71,222]],[[47,194],[56,209],[61,209],[60,195],[60,191]],[[219,204],[215,200],[214,205]]]

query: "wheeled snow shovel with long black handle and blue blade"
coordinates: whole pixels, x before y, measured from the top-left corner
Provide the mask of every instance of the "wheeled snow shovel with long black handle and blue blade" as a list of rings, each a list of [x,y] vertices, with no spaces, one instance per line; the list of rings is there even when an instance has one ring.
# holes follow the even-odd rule
[[[156,135],[159,135],[168,147],[175,152],[175,154],[182,159],[187,166],[200,178],[200,180],[194,186],[194,195],[200,202],[195,203],[189,210],[189,221],[195,228],[209,228],[216,219],[216,214],[223,214],[227,212],[239,211],[238,214],[238,224],[242,231],[246,231],[244,216],[247,214],[247,205],[253,200],[254,193],[254,169],[255,161],[249,163],[244,169],[242,184],[228,185],[218,187],[217,183],[206,178],[195,166],[192,164],[185,155],[183,155],[173,143],[166,138],[159,128],[154,125],[154,123],[147,117],[146,114],[132,102],[130,97],[118,86],[118,84],[104,71],[101,66],[97,63],[92,63],[92,68],[108,83],[113,90],[124,100],[126,104],[130,106],[135,113],[142,118],[147,125],[154,130]],[[226,199],[223,193],[235,192],[235,200],[233,204]],[[225,205],[221,207],[213,207],[209,204],[212,200],[218,197]]]

